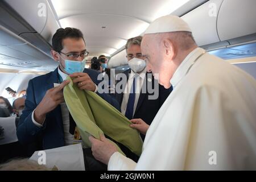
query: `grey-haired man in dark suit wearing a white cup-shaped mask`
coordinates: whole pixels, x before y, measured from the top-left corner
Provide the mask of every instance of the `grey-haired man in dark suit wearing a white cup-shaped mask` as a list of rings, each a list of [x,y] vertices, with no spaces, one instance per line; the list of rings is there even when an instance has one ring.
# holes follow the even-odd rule
[[[123,72],[126,76],[126,85],[123,86],[123,92],[115,93],[115,98],[121,105],[123,115],[128,119],[133,119],[132,121],[142,119],[147,125],[150,125],[171,93],[172,87],[165,89],[158,84],[151,72],[146,71],[146,61],[141,53],[141,40],[142,36],[127,40],[125,48],[130,69]],[[155,93],[151,93],[148,88],[154,85],[156,88],[152,91]],[[116,86],[117,88],[118,86]],[[151,94],[157,95],[155,99],[148,97]],[[144,139],[144,135],[142,135],[142,139]]]

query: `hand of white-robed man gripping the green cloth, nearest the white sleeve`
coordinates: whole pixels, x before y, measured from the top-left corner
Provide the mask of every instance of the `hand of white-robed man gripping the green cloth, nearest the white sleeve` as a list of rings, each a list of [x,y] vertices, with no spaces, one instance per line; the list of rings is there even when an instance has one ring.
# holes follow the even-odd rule
[[[95,159],[108,165],[110,157],[118,150],[114,144],[110,143],[108,139],[104,137],[104,135],[101,135],[100,139],[101,140],[98,140],[92,136],[89,137],[89,140],[92,143],[92,154]]]

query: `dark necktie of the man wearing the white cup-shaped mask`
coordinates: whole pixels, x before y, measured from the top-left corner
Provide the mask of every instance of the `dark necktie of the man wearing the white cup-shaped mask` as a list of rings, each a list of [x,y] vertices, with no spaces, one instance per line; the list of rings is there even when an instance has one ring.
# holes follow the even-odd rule
[[[133,78],[133,86],[130,90],[129,99],[127,102],[127,107],[125,111],[125,117],[128,119],[133,119],[133,107],[135,102],[135,90],[136,90],[136,76]]]

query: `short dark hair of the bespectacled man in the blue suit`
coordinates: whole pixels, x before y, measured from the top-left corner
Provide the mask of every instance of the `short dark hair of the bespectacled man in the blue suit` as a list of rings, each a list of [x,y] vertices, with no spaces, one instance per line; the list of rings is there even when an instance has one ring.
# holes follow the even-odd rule
[[[52,37],[52,49],[56,52],[60,52],[63,49],[62,42],[65,38],[82,38],[84,40],[82,32],[77,28],[59,28]]]

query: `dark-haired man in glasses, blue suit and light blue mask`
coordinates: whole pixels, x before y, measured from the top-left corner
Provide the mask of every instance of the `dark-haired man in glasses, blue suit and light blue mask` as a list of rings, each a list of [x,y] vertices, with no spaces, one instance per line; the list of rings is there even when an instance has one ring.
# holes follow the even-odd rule
[[[59,67],[28,82],[25,109],[17,127],[20,143],[33,143],[39,138],[43,149],[81,142],[74,137],[76,125],[64,102],[63,88],[69,82],[65,78],[70,76],[81,90],[96,93],[100,82],[97,80],[99,72],[84,69],[85,61],[82,60],[89,52],[80,30],[59,28],[53,35],[52,47],[52,57],[59,61]],[[112,96],[97,94],[119,109],[118,102]]]

